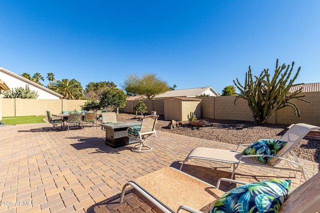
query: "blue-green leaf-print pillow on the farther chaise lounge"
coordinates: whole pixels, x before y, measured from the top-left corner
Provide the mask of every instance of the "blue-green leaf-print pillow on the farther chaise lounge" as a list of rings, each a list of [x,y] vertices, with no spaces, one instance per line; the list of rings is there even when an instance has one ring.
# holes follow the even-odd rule
[[[286,144],[285,141],[261,139],[251,146],[245,148],[242,152],[243,155],[276,155]],[[272,157],[253,157],[266,164]]]

